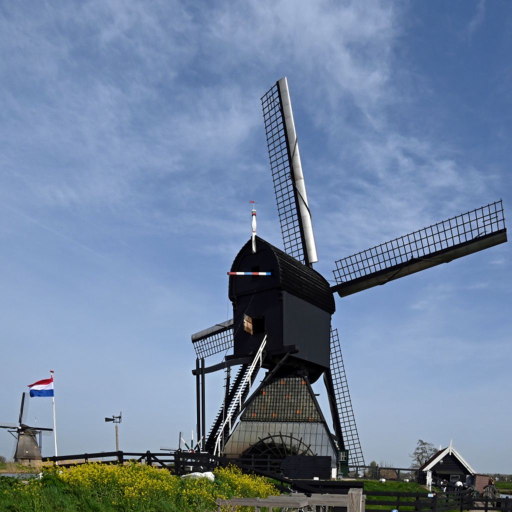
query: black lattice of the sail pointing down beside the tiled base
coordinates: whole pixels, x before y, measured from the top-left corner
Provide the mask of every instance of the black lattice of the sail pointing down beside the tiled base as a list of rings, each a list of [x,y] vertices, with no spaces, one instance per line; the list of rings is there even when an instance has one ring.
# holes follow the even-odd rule
[[[365,458],[362,455],[361,442],[355,423],[347,374],[343,364],[342,346],[339,342],[338,330],[332,327],[330,368],[343,442],[345,449],[349,451],[349,466],[364,466]]]

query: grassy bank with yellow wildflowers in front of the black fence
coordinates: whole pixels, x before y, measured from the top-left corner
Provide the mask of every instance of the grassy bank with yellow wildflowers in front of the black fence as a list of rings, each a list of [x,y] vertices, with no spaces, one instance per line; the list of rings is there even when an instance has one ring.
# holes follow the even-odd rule
[[[261,477],[219,468],[216,479],[182,479],[143,464],[46,468],[42,479],[0,478],[0,512],[213,512],[217,498],[279,494]]]

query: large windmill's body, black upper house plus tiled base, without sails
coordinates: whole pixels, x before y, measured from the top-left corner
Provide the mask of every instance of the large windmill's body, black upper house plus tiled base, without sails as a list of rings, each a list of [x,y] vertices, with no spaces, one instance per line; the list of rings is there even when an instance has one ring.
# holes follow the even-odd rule
[[[223,454],[266,471],[295,474],[308,456],[314,475],[336,472],[338,447],[318,406],[311,383],[329,369],[331,315],[335,305],[321,274],[257,237],[247,242],[231,272],[264,270],[266,276],[230,275],[233,358],[250,358],[266,337],[258,391],[245,401],[240,422]],[[311,468],[313,471],[313,467]]]

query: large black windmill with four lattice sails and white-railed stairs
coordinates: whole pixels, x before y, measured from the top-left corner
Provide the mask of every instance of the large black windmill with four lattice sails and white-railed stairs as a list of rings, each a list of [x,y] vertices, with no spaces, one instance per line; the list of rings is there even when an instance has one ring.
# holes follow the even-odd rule
[[[203,450],[291,478],[329,478],[364,465],[343,356],[331,328],[344,297],[506,242],[502,201],[336,261],[335,285],[317,262],[286,78],[262,97],[284,251],[255,234],[229,274],[233,318],[192,335],[197,354],[197,438]],[[224,353],[220,364],[205,359]],[[235,367],[238,371],[231,375]],[[266,370],[254,388],[257,373]],[[206,433],[205,377],[224,371],[224,399]],[[331,433],[311,385],[323,377]]]

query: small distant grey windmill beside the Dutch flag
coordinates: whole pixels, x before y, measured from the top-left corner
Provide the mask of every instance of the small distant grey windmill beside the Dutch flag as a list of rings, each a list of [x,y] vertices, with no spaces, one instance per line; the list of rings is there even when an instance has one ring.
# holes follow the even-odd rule
[[[8,429],[8,432],[16,439],[14,462],[29,463],[34,460],[41,460],[41,435],[53,432],[53,429],[27,425],[25,423],[27,411],[27,393],[23,393],[18,423],[4,423],[0,425],[0,429]]]

